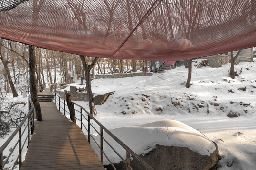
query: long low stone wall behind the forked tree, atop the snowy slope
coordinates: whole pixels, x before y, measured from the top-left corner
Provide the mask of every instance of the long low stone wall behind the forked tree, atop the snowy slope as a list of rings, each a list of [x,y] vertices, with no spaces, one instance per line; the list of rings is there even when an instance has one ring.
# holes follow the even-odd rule
[[[152,72],[138,72],[138,73],[118,73],[114,75],[96,75],[95,79],[99,78],[125,78],[125,77],[133,77],[133,76],[152,76]]]

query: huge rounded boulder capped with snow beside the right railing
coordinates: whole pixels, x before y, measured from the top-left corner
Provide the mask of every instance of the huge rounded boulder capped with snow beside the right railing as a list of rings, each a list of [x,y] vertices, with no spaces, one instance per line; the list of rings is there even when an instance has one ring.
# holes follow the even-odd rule
[[[116,128],[111,132],[155,170],[209,170],[218,159],[218,146],[215,143],[179,121],[162,120]],[[121,146],[117,146],[109,136],[105,138],[125,158]],[[114,163],[119,163],[119,157],[106,145],[104,152]],[[108,163],[104,161],[104,164]],[[135,161],[132,161],[132,165],[136,170],[143,170]]]

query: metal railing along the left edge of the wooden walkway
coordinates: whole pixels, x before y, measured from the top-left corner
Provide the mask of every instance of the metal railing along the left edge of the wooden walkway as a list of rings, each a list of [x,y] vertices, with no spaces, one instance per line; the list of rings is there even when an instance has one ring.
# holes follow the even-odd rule
[[[35,121],[34,121],[34,105],[31,102],[30,96],[29,96],[29,110],[28,110],[28,114],[25,116],[25,118],[22,120],[22,122],[19,124],[19,126],[16,128],[16,130],[11,134],[11,136],[7,139],[7,141],[0,147],[0,170],[4,169],[4,166],[7,164],[7,161],[9,160],[10,156],[12,155],[13,151],[15,150],[16,146],[19,144],[19,155],[16,159],[16,161],[13,164],[13,167],[11,170],[13,170],[17,164],[17,161],[19,160],[19,169],[21,167],[22,164],[22,158],[21,158],[21,152],[24,148],[24,145],[26,144],[26,141],[28,140],[28,145],[30,143],[30,134],[32,135],[34,132],[34,128],[35,128]],[[22,126],[25,125],[25,122],[28,121],[27,125],[24,127],[24,129],[22,130]],[[30,125],[29,125],[30,124]],[[22,140],[21,137],[23,136],[23,134],[25,133],[27,128],[27,132],[28,135],[26,136],[24,143],[22,144]],[[30,133],[31,132],[31,133]],[[13,146],[13,148],[11,149],[9,155],[5,158],[5,160],[3,161],[3,152],[6,149],[6,147],[9,145],[9,143],[13,140],[13,138],[19,134],[19,138],[18,141],[16,142],[16,144]]]

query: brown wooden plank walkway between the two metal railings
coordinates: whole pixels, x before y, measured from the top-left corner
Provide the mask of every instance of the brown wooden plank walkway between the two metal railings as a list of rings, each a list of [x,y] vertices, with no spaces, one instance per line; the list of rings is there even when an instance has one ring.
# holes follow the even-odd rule
[[[61,116],[53,102],[40,102],[42,122],[28,146],[21,170],[104,170],[82,130]]]

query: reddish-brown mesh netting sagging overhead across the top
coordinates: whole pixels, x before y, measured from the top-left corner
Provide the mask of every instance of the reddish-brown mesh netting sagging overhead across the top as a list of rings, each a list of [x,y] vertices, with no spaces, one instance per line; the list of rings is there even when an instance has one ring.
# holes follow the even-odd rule
[[[256,0],[0,0],[0,6],[1,37],[85,56],[173,61],[256,46]]]

